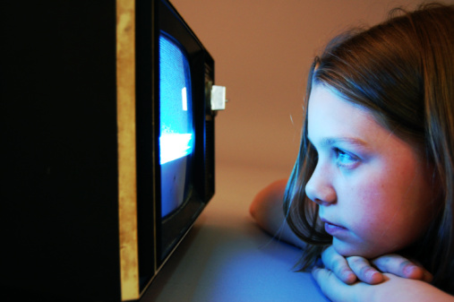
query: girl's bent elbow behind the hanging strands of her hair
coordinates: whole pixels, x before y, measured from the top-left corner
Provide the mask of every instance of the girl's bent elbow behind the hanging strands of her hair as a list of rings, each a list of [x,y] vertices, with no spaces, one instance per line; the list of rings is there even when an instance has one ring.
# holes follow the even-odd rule
[[[280,179],[263,188],[253,199],[249,212],[257,224],[278,240],[304,247],[304,241],[296,237],[288,227],[282,210],[287,179]]]

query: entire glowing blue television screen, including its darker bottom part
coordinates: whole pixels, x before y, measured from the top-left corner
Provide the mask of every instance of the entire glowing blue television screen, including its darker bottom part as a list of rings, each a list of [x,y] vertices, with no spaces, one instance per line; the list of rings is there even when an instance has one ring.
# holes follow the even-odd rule
[[[165,217],[184,203],[194,135],[189,61],[164,33],[159,37],[159,106],[161,215]]]

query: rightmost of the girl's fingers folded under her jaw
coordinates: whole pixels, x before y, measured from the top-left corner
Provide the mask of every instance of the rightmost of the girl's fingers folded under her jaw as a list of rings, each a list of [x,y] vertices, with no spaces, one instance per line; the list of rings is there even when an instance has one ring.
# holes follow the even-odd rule
[[[409,261],[407,258],[397,255],[383,255],[373,259],[375,265],[381,272],[390,272],[399,277],[430,282],[433,276],[421,265]]]

